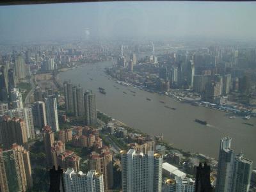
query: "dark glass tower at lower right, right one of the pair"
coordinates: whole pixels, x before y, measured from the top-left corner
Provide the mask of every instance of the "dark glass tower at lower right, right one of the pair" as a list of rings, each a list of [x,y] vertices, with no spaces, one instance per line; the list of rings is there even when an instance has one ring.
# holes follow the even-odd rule
[[[247,192],[250,188],[252,161],[245,159],[240,153],[235,157],[232,174],[232,192]]]

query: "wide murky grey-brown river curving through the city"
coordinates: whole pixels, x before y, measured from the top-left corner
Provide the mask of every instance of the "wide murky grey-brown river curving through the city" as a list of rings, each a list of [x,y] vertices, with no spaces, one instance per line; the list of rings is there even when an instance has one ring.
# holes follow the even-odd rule
[[[220,139],[230,136],[236,153],[243,152],[244,157],[256,161],[256,127],[243,124],[256,125],[256,118],[230,119],[223,111],[191,106],[165,95],[122,86],[104,74],[104,67],[111,65],[111,61],[84,64],[83,67],[61,72],[60,80],[71,80],[73,84],[93,90],[97,109],[148,134],[158,136],[163,133],[164,140],[173,143],[173,147],[218,159]],[[99,93],[99,87],[105,88],[107,94]],[[136,96],[131,91],[136,92]],[[164,105],[177,109],[164,108]],[[209,125],[198,124],[195,118],[206,120]]]

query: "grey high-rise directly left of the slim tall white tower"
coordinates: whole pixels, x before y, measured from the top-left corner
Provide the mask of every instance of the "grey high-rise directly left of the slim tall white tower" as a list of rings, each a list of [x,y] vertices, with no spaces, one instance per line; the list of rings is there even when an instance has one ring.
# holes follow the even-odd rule
[[[45,110],[45,103],[42,101],[34,102],[32,106],[32,113],[33,113],[33,121],[35,127],[42,129],[45,125],[47,125],[47,118],[46,118],[46,110]]]

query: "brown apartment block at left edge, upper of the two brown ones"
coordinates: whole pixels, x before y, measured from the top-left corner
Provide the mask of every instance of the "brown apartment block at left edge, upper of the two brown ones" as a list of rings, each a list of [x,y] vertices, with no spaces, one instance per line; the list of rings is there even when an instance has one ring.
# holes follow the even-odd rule
[[[0,140],[4,148],[12,147],[13,143],[26,146],[28,136],[26,131],[26,123],[20,118],[3,117],[0,121]]]

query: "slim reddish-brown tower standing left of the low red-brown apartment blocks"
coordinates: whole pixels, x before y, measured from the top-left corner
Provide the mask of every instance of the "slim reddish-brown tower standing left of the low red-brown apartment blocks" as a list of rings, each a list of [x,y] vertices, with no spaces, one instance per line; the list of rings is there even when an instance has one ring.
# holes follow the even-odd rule
[[[42,134],[47,164],[52,165],[51,149],[54,143],[54,132],[52,132],[51,127],[45,126],[42,130]]]

